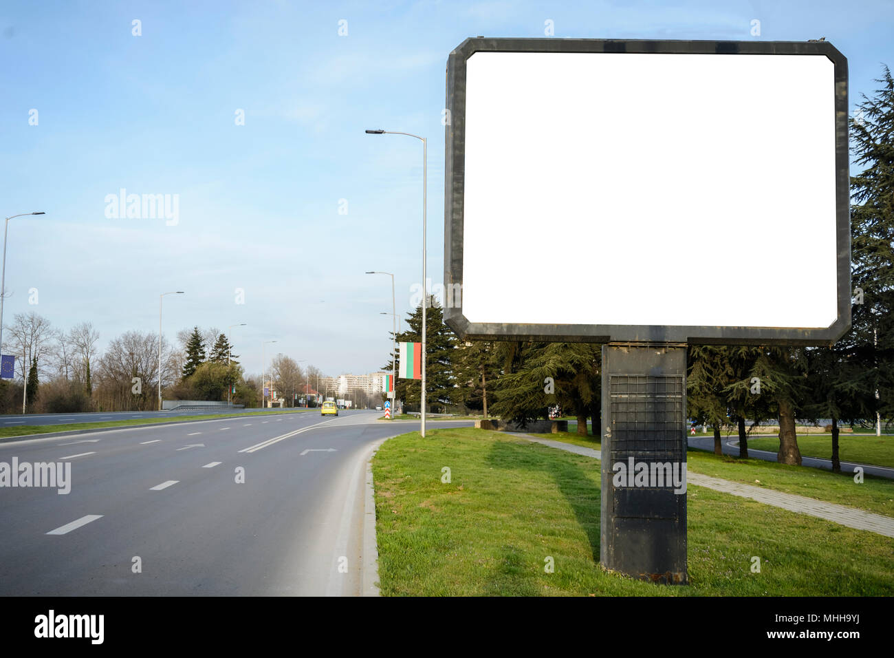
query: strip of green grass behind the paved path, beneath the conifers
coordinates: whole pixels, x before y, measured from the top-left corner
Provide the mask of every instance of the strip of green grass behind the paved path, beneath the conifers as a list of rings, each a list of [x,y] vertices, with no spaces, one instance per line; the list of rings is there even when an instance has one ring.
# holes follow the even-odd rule
[[[584,439],[577,434],[533,434],[573,443],[586,448],[601,449],[599,441]],[[755,440],[756,441],[756,440]],[[753,446],[755,441],[748,441]],[[801,440],[798,439],[798,445]],[[816,500],[865,509],[875,514],[894,517],[894,481],[864,475],[864,482],[854,482],[853,474],[834,474],[809,466],[787,466],[763,459],[739,459],[729,455],[714,455],[704,450],[689,449],[687,471],[701,473],[724,480],[753,484],[774,491],[797,493]]]

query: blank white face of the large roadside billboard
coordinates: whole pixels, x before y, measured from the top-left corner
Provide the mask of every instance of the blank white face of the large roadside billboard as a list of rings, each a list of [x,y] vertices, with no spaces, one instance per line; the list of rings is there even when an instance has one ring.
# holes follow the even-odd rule
[[[468,321],[838,317],[827,57],[477,52],[466,76]]]

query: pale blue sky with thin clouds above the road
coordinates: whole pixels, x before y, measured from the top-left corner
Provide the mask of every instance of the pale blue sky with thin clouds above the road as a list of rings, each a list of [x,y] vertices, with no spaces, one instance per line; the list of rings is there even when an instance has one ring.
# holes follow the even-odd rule
[[[890,2],[7,0],[0,216],[46,216],[10,223],[4,321],[90,320],[105,346],[157,331],[158,295],[184,290],[165,297],[165,335],[246,322],[232,338],[249,372],[266,340],[278,341],[268,357],[327,374],[377,370],[390,280],[363,272],[394,272],[404,316],[421,280],[422,153],[363,131],[428,138],[428,272],[440,282],[447,56],[470,36],[543,37],[546,20],[556,38],[824,36],[848,57],[852,111],[881,63],[894,65]],[[107,218],[105,197],[122,188],[179,195],[177,223]]]

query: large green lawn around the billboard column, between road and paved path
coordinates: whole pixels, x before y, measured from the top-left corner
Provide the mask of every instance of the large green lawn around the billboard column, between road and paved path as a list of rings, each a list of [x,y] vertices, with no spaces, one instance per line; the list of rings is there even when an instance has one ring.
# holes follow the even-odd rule
[[[598,461],[502,432],[428,434],[373,461],[385,595],[894,595],[894,540],[696,486],[691,585],[603,571]]]

